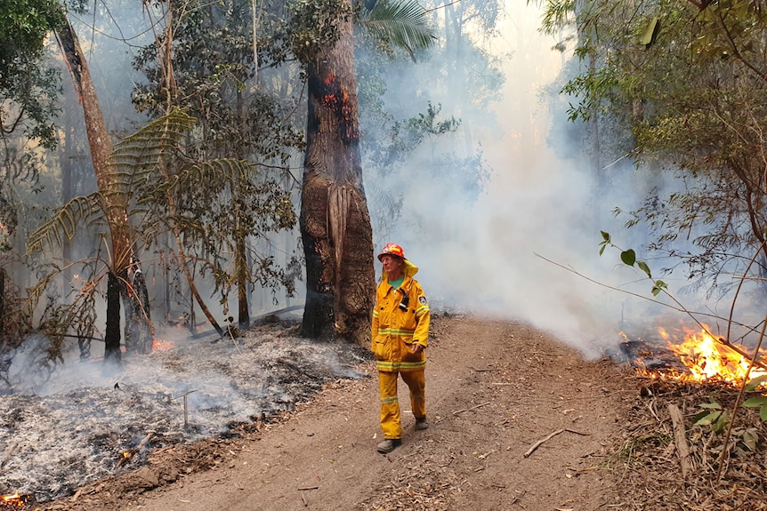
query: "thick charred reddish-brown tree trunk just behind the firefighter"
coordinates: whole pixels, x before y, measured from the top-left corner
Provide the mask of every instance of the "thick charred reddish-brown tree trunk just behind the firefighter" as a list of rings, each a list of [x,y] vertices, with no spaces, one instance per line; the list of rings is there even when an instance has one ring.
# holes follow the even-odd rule
[[[302,334],[363,344],[375,270],[373,232],[359,158],[357,79],[351,21],[307,69],[309,115],[301,195],[306,258]]]

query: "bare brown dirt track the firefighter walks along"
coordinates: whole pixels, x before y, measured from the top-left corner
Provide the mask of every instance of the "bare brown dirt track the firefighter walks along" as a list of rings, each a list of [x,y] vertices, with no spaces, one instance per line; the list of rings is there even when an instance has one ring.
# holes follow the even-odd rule
[[[587,511],[616,502],[612,474],[599,468],[621,435],[622,397],[635,392],[617,366],[528,326],[473,317],[435,318],[427,353],[431,427],[414,431],[404,413],[403,445],[389,455],[375,451],[371,362],[369,378],[327,386],[245,439],[157,453],[40,509]],[[211,468],[198,470],[205,457]]]

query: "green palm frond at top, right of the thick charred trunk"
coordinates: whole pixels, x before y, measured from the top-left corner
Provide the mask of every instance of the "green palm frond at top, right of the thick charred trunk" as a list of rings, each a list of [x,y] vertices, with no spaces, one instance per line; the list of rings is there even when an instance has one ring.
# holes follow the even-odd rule
[[[379,0],[371,11],[359,17],[358,24],[372,35],[405,48],[413,60],[413,52],[429,48],[437,40],[437,29],[416,0]]]

